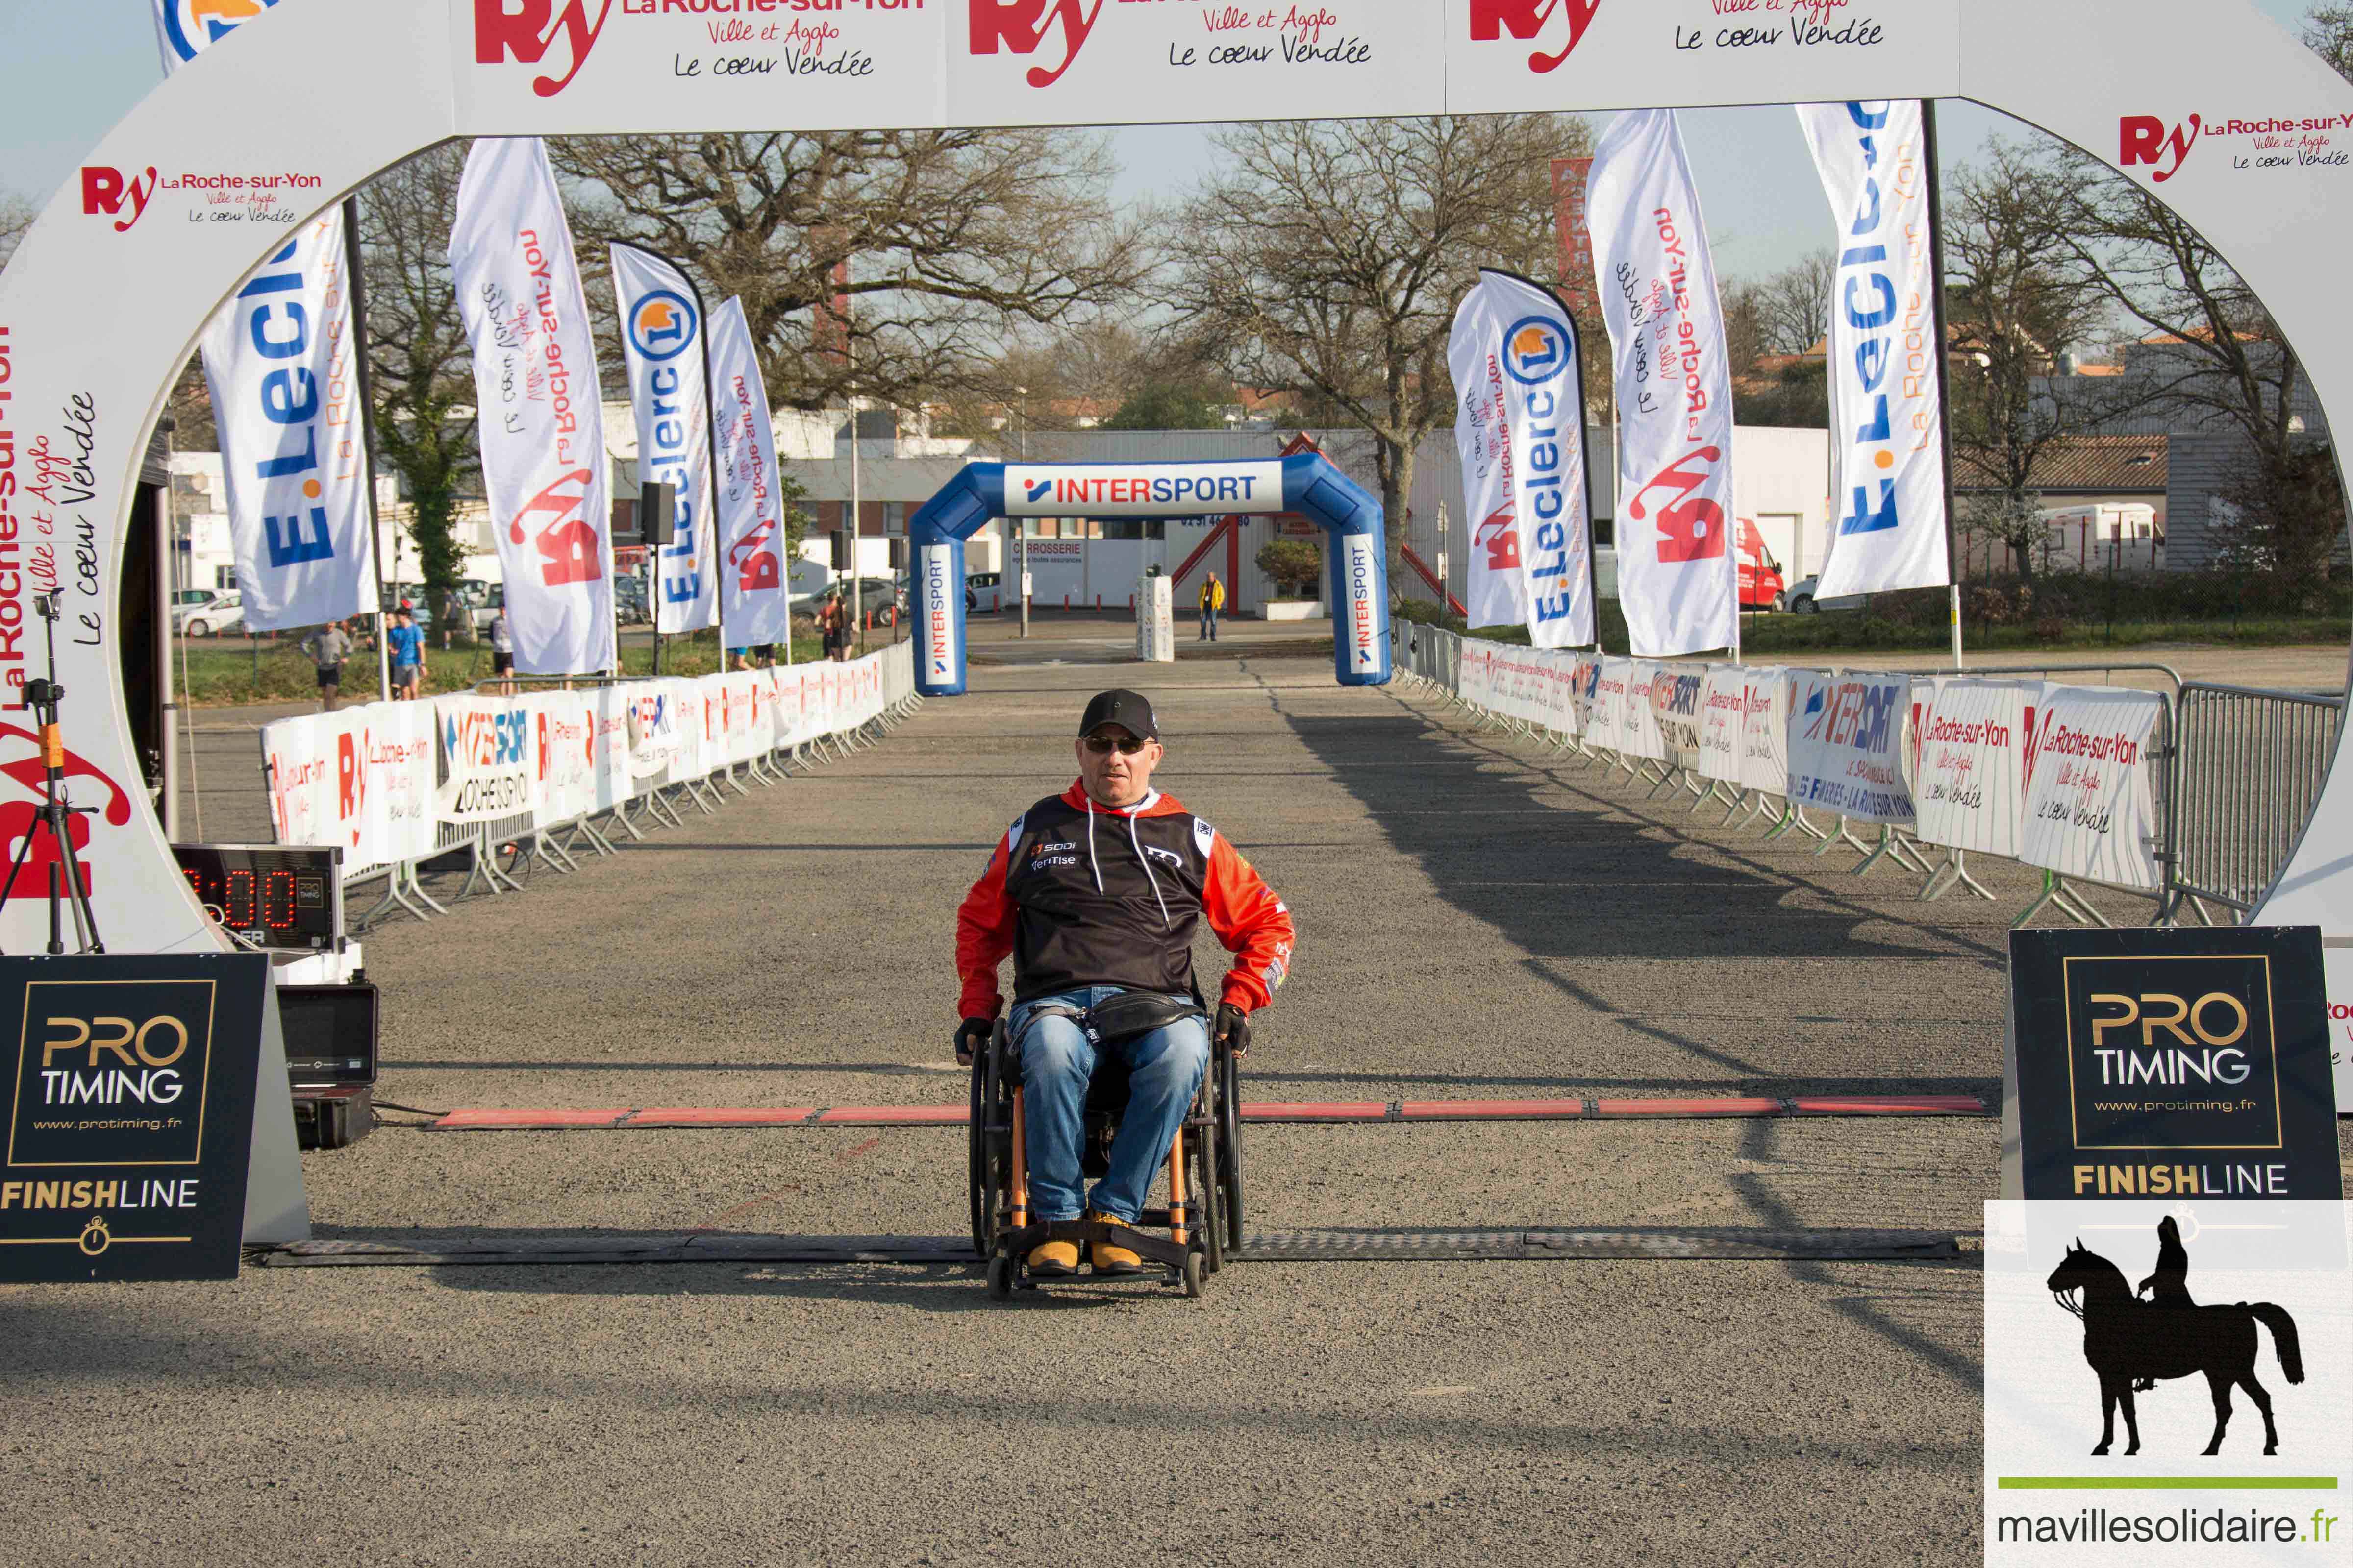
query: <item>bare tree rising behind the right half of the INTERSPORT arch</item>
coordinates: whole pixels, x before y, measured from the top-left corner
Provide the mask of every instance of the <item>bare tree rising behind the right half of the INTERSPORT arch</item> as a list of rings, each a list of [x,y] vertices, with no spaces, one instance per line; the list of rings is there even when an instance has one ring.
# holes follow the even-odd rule
[[[1414,447],[1454,418],[1447,331],[1482,263],[1555,270],[1551,160],[1581,120],[1235,125],[1169,242],[1179,329],[1242,386],[1372,435],[1395,581]]]

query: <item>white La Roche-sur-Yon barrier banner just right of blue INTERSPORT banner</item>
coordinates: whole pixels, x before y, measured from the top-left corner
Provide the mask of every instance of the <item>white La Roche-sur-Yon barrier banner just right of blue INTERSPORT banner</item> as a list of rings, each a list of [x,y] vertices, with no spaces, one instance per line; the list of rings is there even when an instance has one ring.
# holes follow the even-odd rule
[[[2009,856],[2026,849],[2026,738],[2042,682],[1915,679],[1920,839]]]

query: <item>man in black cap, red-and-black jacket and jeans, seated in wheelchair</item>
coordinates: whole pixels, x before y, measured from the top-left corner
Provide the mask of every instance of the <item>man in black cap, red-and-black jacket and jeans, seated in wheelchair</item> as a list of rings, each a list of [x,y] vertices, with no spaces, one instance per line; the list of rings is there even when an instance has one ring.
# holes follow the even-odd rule
[[[1165,752],[1148,701],[1099,693],[1075,750],[1078,783],[1014,818],[955,912],[955,1058],[969,1065],[988,1048],[1005,1001],[998,964],[1012,954],[1007,1027],[1021,1060],[1035,1218],[1136,1225],[1209,1063],[1195,929],[1207,917],[1235,954],[1214,1023],[1235,1056],[1249,1048],[1249,1013],[1289,971],[1294,931],[1289,910],[1226,835],[1153,790]],[[1089,1197],[1080,1143],[1087,1084],[1106,1058],[1127,1067],[1129,1093],[1108,1171]],[[1111,1241],[1094,1244],[1092,1262],[1096,1274],[1141,1269],[1132,1248]],[[1028,1272],[1075,1274],[1078,1246],[1045,1241]]]

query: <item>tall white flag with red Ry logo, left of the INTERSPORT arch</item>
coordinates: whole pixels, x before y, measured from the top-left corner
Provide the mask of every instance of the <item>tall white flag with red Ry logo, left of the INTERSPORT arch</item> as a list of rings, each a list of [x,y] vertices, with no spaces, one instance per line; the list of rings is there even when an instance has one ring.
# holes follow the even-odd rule
[[[515,670],[612,670],[612,503],[595,341],[572,226],[536,136],[473,143],[456,186],[449,275],[473,343],[482,487]]]

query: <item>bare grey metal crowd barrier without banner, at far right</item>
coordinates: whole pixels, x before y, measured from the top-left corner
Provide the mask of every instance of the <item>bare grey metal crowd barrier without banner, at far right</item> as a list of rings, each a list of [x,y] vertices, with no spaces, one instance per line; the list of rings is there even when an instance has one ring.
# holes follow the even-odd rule
[[[2245,917],[2264,900],[2320,802],[2344,708],[2311,691],[2181,686],[2174,891],[2200,922],[2207,905]]]

